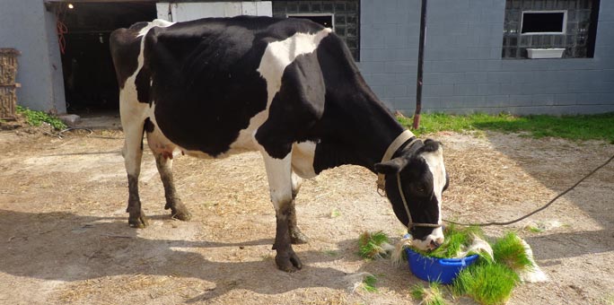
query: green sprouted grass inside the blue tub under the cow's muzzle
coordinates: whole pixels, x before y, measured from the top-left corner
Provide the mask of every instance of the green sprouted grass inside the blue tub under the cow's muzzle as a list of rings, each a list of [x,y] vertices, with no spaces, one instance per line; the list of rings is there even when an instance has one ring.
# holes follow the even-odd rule
[[[456,257],[461,248],[469,247],[471,242],[473,242],[474,235],[482,237],[484,233],[479,227],[476,226],[459,227],[454,224],[450,224],[443,231],[443,235],[445,236],[445,240],[443,240],[443,244],[439,248],[436,248],[433,251],[414,250],[425,257]]]

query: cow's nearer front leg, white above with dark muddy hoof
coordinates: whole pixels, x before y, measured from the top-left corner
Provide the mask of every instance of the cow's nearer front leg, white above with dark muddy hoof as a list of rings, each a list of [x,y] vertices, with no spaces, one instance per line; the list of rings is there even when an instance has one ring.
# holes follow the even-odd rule
[[[290,225],[294,217],[294,200],[292,196],[292,169],[290,165],[291,153],[284,159],[276,159],[262,152],[265,168],[267,169],[268,187],[271,193],[271,201],[275,206],[275,217],[277,222],[275,243],[273,248],[277,254],[275,262],[280,270],[294,272],[301,269],[303,264],[292,248],[290,236]]]

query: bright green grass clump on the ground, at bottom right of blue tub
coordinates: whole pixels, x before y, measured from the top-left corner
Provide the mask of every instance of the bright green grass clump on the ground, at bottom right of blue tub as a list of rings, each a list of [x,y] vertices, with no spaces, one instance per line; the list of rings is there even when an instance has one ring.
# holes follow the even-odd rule
[[[504,304],[509,300],[518,274],[502,264],[474,264],[456,277],[452,291],[456,295],[467,295],[483,305]]]

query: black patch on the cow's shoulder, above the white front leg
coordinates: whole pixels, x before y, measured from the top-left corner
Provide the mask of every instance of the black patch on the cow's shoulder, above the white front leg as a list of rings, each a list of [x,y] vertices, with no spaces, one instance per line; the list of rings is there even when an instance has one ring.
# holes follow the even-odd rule
[[[256,140],[267,153],[282,159],[294,142],[312,140],[312,126],[324,112],[324,79],[316,54],[296,57],[282,75],[282,85],[271,102],[267,121]]]

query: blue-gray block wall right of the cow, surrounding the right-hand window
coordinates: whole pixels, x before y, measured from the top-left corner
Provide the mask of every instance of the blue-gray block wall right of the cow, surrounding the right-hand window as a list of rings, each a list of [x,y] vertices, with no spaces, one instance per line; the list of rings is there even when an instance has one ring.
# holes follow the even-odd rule
[[[416,103],[418,0],[361,7],[361,63],[393,109]],[[614,2],[601,1],[593,58],[502,59],[504,0],[430,0],[423,109],[452,113],[614,111]]]

